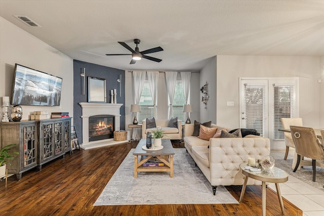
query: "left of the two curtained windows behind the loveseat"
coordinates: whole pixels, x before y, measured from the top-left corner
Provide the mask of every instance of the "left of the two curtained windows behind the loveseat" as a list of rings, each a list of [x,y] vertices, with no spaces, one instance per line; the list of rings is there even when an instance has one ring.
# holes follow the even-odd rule
[[[154,105],[148,80],[144,81],[139,105],[141,105],[141,112],[138,113],[138,122],[142,122],[145,118],[152,118],[154,116]]]

